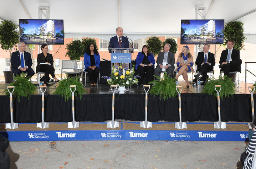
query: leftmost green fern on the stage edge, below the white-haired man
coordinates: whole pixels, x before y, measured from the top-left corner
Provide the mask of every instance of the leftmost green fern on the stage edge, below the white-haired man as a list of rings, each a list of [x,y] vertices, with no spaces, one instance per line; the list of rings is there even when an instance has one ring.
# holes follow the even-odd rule
[[[13,94],[18,98],[19,102],[20,96],[27,97],[27,99],[29,99],[30,95],[36,92],[36,86],[31,83],[29,79],[30,76],[26,77],[26,74],[22,73],[16,77],[14,76],[15,81],[10,84],[10,86],[15,86]],[[7,89],[5,90],[5,93],[10,95]]]

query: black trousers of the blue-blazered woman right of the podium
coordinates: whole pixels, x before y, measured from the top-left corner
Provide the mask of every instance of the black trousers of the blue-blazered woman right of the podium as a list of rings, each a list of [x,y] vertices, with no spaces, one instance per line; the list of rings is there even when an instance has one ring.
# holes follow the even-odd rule
[[[142,84],[142,80],[145,77],[145,74],[146,74],[147,84],[148,84],[153,79],[154,67],[153,66],[144,66],[144,67],[142,67],[141,65],[139,65],[137,67],[137,74],[140,76],[140,78],[138,78],[138,80],[139,80],[138,85]]]

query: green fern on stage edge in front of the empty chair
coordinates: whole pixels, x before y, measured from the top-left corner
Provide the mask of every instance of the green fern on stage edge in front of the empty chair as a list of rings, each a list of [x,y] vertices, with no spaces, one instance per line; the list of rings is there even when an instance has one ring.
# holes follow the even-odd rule
[[[65,97],[65,101],[72,98],[72,93],[70,91],[70,85],[76,85],[76,91],[74,93],[75,97],[77,95],[80,96],[80,99],[82,98],[82,94],[86,93],[86,90],[83,88],[82,83],[79,81],[79,77],[77,78],[66,78],[62,79],[56,88],[56,91],[54,94],[61,95],[62,97]]]

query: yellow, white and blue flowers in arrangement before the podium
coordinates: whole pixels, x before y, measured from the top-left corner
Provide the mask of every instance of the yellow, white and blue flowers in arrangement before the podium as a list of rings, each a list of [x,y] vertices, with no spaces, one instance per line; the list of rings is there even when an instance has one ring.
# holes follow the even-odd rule
[[[115,65],[112,67],[111,76],[102,76],[103,79],[106,79],[108,84],[117,85],[117,86],[128,86],[138,83],[139,75],[134,76],[134,65],[132,69],[128,68],[128,65],[123,68],[122,63],[120,66]]]

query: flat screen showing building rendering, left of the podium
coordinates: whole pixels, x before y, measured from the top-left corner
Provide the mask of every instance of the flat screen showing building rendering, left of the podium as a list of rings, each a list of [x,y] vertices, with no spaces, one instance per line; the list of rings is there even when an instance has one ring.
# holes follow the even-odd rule
[[[20,19],[20,42],[64,44],[63,20]]]

